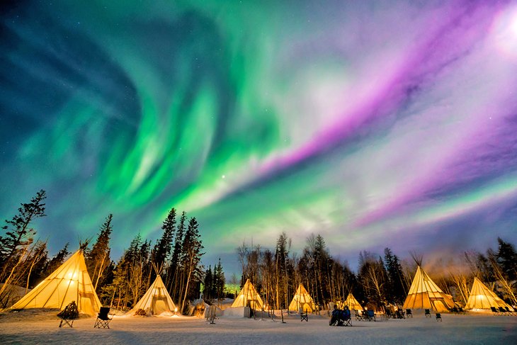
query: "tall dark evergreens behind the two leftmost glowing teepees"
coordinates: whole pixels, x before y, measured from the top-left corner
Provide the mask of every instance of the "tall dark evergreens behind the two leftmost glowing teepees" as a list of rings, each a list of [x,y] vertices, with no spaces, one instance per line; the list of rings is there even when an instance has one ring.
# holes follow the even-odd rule
[[[33,288],[64,263],[69,256],[65,244],[50,257],[47,243],[35,240],[31,222],[45,217],[45,191],[41,190],[29,203],[21,204],[11,220],[6,220],[0,236],[0,307],[13,302],[13,286]],[[113,215],[108,215],[98,230],[95,241],[84,246],[86,267],[93,288],[104,305],[127,309],[136,303],[157,274],[161,274],[171,298],[183,311],[188,300],[198,298],[205,278],[201,265],[203,242],[198,220],[183,212],[176,220],[176,209],[171,208],[161,225],[161,237],[153,245],[140,234],[130,242],[118,261],[110,256]],[[224,280],[222,266],[217,274]],[[224,283],[223,283],[224,284]]]

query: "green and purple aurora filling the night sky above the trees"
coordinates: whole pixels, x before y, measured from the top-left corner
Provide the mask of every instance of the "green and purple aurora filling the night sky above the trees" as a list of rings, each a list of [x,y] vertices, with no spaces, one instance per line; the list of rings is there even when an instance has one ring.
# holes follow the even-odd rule
[[[0,215],[45,189],[56,251],[113,213],[120,254],[171,207],[212,262],[283,231],[351,259],[517,241],[515,2],[2,6]]]

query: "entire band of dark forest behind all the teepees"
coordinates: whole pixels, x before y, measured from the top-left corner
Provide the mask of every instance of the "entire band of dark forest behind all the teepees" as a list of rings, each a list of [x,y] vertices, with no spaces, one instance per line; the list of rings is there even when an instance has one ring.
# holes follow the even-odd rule
[[[59,267],[71,254],[69,244],[49,256],[47,243],[35,240],[31,223],[45,217],[45,191],[39,191],[29,203],[22,203],[18,213],[6,220],[0,235],[0,307],[12,303],[13,286],[27,291]],[[383,255],[360,251],[358,269],[335,259],[324,238],[312,234],[298,254],[291,249],[285,232],[276,239],[274,249],[242,243],[236,259],[242,268],[240,279],[227,282],[219,260],[203,266],[203,242],[198,221],[178,215],[175,208],[161,225],[161,237],[152,243],[137,234],[123,255],[114,260],[110,255],[113,215],[107,215],[96,238],[83,243],[86,266],[93,286],[104,305],[119,310],[129,309],[142,297],[149,285],[161,274],[167,290],[181,311],[190,300],[203,295],[205,302],[234,298],[246,279],[256,286],[265,304],[273,309],[286,309],[302,283],[317,305],[343,301],[353,293],[363,305],[374,310],[384,305],[402,305],[416,271],[421,254],[401,259],[390,248]],[[517,252],[513,244],[497,239],[496,249],[464,251],[456,258],[434,261],[429,273],[439,287],[465,305],[475,276],[486,283],[499,297],[517,305]],[[420,259],[418,259],[420,257]],[[424,261],[425,264],[425,261]],[[233,283],[233,284],[229,284]],[[233,286],[232,288],[230,288]]]

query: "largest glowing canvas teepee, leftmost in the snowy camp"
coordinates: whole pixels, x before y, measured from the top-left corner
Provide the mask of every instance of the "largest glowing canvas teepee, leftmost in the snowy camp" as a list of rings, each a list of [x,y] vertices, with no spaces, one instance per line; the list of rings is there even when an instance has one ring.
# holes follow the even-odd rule
[[[9,309],[57,308],[62,310],[72,301],[76,302],[79,312],[88,315],[96,315],[101,307],[101,301],[98,300],[86,270],[83,249],[76,251],[64,264]]]

